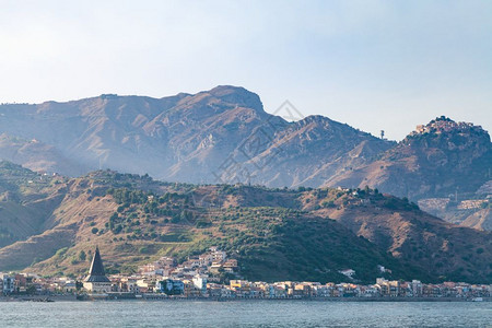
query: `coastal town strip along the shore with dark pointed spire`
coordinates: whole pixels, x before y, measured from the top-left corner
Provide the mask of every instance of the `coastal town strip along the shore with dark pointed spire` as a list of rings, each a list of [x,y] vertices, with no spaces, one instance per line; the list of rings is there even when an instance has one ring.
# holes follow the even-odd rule
[[[388,271],[379,267],[382,273]],[[352,280],[352,269],[340,273]],[[30,298],[37,296],[37,298]],[[319,283],[306,281],[262,282],[241,279],[237,260],[218,247],[177,263],[161,257],[139,268],[134,274],[106,276],[98,248],[89,274],[81,280],[45,278],[34,273],[1,273],[0,301],[33,300],[429,300],[490,301],[492,284],[464,282],[422,283],[376,279],[374,284],[355,282]]]

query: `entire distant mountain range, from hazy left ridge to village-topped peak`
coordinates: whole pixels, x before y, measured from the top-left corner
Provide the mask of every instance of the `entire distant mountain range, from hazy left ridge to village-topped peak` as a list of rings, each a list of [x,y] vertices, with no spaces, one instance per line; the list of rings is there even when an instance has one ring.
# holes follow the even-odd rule
[[[0,159],[71,177],[110,168],[191,184],[368,186],[448,222],[491,229],[492,143],[481,127],[443,116],[396,143],[327,117],[304,118],[288,103],[276,114],[229,85],[163,98],[7,104]]]

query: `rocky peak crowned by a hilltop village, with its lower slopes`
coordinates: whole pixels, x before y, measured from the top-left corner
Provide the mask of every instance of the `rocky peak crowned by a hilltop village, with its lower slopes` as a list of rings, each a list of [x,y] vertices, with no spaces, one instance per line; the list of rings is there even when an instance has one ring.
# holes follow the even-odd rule
[[[438,117],[326,186],[377,188],[448,222],[491,230],[492,143],[479,126]]]

